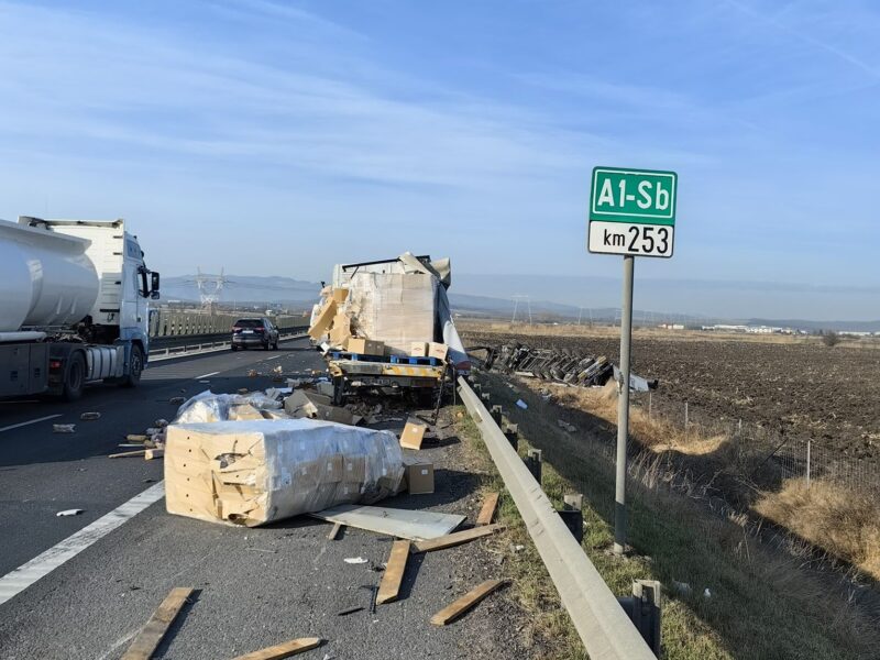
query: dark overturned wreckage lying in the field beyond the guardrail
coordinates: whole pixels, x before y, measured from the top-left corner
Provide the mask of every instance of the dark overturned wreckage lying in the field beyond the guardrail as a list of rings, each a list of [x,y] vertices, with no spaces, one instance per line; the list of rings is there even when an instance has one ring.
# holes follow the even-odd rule
[[[532,349],[512,342],[501,349],[491,349],[485,369],[522,376],[553,381],[566,385],[601,387],[608,381],[619,381],[619,370],[604,355],[585,355],[571,350]],[[629,386],[636,392],[656,389],[658,382],[630,374]]]

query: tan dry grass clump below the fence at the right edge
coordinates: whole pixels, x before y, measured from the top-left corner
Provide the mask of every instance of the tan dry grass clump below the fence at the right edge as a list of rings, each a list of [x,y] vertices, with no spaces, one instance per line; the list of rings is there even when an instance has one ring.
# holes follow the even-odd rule
[[[788,480],[755,510],[880,580],[880,503],[833,482]]]

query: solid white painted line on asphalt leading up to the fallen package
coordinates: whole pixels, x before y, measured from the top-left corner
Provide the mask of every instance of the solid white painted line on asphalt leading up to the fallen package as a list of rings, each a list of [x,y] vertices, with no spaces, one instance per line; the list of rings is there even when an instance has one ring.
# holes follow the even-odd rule
[[[91,525],[84,527],[31,561],[0,578],[0,605],[23,592],[41,578],[73,559],[82,550],[100,540],[130,518],[136,516],[154,502],[165,496],[165,482],[158,482],[125,504],[101,516]]]

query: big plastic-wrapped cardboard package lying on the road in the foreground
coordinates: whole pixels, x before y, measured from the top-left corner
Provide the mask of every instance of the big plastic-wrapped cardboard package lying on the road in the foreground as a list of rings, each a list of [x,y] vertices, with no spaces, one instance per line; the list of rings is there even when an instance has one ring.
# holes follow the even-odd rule
[[[256,527],[396,493],[397,437],[314,419],[175,424],[165,446],[168,513]]]

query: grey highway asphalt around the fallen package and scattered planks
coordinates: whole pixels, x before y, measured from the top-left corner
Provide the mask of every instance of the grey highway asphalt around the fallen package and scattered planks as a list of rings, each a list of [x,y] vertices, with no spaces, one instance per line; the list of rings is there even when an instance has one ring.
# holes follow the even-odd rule
[[[173,419],[172,397],[209,387],[266,388],[273,385],[266,374],[276,365],[285,376],[323,369],[318,353],[296,340],[277,352],[160,362],[136,389],[97,386],[72,404],[0,405],[0,576],[162,480],[162,461],[107,454],[122,450],[127,433],[143,432],[157,418]],[[249,370],[264,375],[249,377]],[[101,418],[81,421],[87,411]],[[28,424],[52,415],[58,417]],[[53,433],[53,424],[75,424],[76,432]],[[385,504],[473,520],[479,477],[469,473],[458,439],[419,453],[435,463],[437,492]],[[56,517],[69,508],[84,513]],[[428,623],[483,580],[503,576],[502,560],[482,543],[410,558],[400,601],[372,615],[369,587],[378,584],[374,569],[387,560],[393,539],[350,529],[329,541],[328,530],[310,518],[258,529],[201,522],[168,515],[160,499],[0,604],[0,657],[119,658],[174,586],[195,587],[197,595],[154,658],[232,658],[311,636],[328,641],[304,658],[530,657],[518,641],[524,616],[504,593],[452,626]],[[343,561],[356,557],[369,563]],[[365,609],[338,615],[352,606]]]

